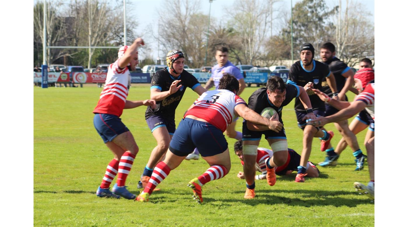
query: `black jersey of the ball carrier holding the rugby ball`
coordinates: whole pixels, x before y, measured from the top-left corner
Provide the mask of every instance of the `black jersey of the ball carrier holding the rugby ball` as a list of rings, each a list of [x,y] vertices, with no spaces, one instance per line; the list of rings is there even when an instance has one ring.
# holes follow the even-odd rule
[[[266,107],[272,107],[274,110],[278,112],[279,115],[279,121],[283,123],[282,121],[282,108],[290,103],[294,98],[299,96],[299,89],[297,86],[293,84],[287,84],[286,88],[286,98],[282,102],[282,105],[277,107],[274,106],[271,101],[268,98],[268,94],[266,93],[266,87],[265,88],[259,88],[256,90],[252,95],[249,97],[248,100],[248,108],[251,110],[261,114],[262,110]]]

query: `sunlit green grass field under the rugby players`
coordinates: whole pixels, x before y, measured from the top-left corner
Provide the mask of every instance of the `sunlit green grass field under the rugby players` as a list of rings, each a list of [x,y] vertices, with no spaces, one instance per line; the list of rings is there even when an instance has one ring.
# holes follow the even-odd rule
[[[246,101],[256,90],[246,88]],[[243,198],[245,181],[233,153],[235,140],[227,138],[232,167],[223,179],[203,188],[204,204],[192,199],[187,183],[202,174],[208,165],[202,159],[184,161],[159,185],[149,203],[95,196],[111,152],[93,127],[92,110],[101,88],[34,88],[34,225],[35,226],[373,226],[374,204],[353,188],[355,181],[368,182],[368,166],[354,172],[352,151],[347,148],[336,167],[319,167],[319,178],[295,183],[291,176],[277,176],[275,186],[256,181],[256,197]],[[148,99],[149,84],[133,84],[129,100]],[[354,95],[348,94],[349,99]],[[176,126],[185,110],[197,98],[187,89],[176,110]],[[302,130],[297,128],[294,101],[283,109],[289,148],[302,150]],[[131,130],[140,151],[127,180],[129,191],[137,194],[137,181],[146,165],[153,138],[144,120],[145,107],[124,110],[122,121]],[[237,130],[241,131],[242,119]],[[332,145],[339,141],[335,132]],[[366,130],[357,135],[363,146]],[[268,148],[266,140],[261,147]],[[318,139],[313,141],[310,161],[324,159]]]

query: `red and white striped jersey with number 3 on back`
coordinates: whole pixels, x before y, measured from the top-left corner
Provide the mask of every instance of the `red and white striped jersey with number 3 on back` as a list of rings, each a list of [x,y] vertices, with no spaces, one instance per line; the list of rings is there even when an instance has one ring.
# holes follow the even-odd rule
[[[193,115],[204,119],[224,132],[235,118],[234,108],[239,104],[246,105],[246,102],[229,90],[209,90],[195,100],[195,106],[184,117]]]

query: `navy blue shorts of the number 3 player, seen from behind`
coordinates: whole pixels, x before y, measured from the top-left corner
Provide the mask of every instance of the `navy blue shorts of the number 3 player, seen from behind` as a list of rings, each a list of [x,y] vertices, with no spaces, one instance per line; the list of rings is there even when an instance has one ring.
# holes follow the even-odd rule
[[[228,148],[222,131],[210,123],[185,118],[180,121],[169,150],[177,156],[187,156],[197,148],[201,156],[221,154]]]

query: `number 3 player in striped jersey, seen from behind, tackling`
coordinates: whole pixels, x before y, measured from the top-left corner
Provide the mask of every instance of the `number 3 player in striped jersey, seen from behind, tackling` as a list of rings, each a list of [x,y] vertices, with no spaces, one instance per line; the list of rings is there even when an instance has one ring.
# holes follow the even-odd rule
[[[261,117],[246,106],[244,99],[237,95],[239,84],[232,75],[225,73],[220,79],[219,89],[202,94],[184,115],[170,142],[164,161],[154,168],[153,175],[137,201],[149,200],[154,188],[174,170],[184,158],[198,148],[202,158],[210,165],[201,176],[192,179],[188,187],[193,189],[194,198],[202,203],[201,187],[209,181],[228,174],[231,160],[228,143],[223,135],[235,116],[268,127],[279,132],[282,124]]]

